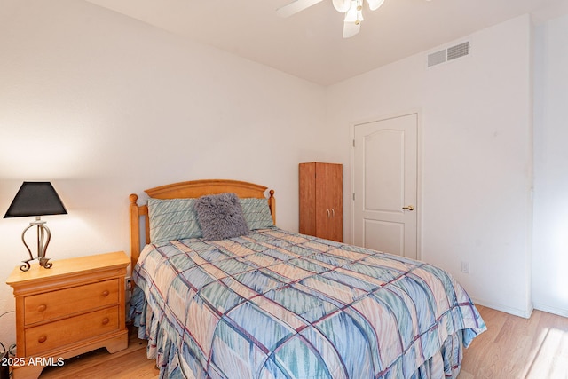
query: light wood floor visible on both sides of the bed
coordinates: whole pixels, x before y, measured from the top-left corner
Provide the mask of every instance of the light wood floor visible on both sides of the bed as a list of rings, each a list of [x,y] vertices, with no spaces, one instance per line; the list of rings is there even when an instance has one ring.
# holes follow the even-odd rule
[[[534,311],[530,319],[477,306],[487,331],[463,354],[458,379],[568,379],[568,318]],[[130,332],[128,349],[108,354],[101,349],[62,367],[47,367],[41,379],[157,378],[153,360],[146,359],[146,341]],[[356,378],[353,378],[356,379]]]

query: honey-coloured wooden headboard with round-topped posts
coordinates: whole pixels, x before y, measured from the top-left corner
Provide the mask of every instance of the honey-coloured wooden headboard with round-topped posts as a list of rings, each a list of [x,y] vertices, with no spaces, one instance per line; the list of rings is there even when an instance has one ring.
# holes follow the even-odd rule
[[[259,186],[253,183],[241,182],[239,180],[207,179],[193,180],[189,182],[174,183],[166,186],[159,186],[144,191],[149,197],[154,199],[185,199],[198,198],[206,194],[217,193],[236,193],[241,198],[254,197],[263,199],[264,192],[268,187]],[[132,268],[136,265],[140,255],[140,248],[144,243],[150,243],[150,223],[148,222],[148,206],[138,205],[138,195],[132,193],[130,199],[130,257]],[[270,190],[269,197],[266,199],[272,214],[272,221],[276,225],[276,199],[274,191]],[[140,217],[144,217],[145,229],[140,230]],[[141,237],[142,235],[142,237]]]

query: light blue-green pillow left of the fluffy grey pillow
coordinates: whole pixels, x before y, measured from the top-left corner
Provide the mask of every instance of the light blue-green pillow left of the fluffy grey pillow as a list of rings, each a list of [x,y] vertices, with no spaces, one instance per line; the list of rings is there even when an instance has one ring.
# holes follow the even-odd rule
[[[195,199],[148,199],[150,241],[153,243],[201,237]]]

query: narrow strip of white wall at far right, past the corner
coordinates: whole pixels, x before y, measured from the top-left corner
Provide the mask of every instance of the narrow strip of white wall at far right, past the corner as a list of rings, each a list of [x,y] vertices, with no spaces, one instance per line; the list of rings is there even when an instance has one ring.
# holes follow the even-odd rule
[[[568,317],[568,16],[535,28],[534,307]]]

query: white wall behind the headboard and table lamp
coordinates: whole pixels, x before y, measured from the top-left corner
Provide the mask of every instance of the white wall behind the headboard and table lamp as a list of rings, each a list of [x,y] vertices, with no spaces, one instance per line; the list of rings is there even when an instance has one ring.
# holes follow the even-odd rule
[[[129,249],[130,193],[201,178],[275,189],[278,224],[297,230],[297,163],[335,159],[318,146],[325,89],[87,2],[1,6],[0,216],[22,181],[50,180],[69,214],[44,217],[48,257]],[[0,278],[30,221],[0,219]],[[0,314],[13,309],[2,284]],[[9,313],[0,342],[14,340]]]

